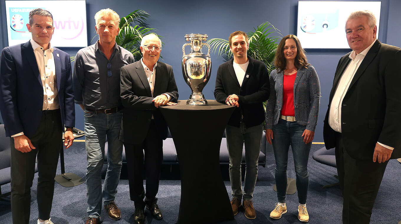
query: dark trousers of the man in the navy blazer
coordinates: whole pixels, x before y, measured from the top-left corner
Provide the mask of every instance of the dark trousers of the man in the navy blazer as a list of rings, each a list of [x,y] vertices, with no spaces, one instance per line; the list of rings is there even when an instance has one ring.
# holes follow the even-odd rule
[[[60,109],[43,111],[41,122],[29,139],[36,149],[22,153],[15,149],[11,138],[11,212],[14,224],[28,224],[30,216],[30,188],[34,178],[36,155],[38,160],[39,218],[47,220],[54,193],[54,178],[62,144]]]

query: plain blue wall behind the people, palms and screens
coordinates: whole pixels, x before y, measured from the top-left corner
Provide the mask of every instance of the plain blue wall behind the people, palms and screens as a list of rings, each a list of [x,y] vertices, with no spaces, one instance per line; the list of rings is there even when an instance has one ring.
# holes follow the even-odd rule
[[[2,21],[6,21],[4,0],[0,1]],[[184,35],[188,33],[205,33],[209,38],[225,38],[235,30],[245,32],[253,30],[253,27],[269,21],[281,30],[283,36],[296,34],[297,0],[254,0],[251,3],[239,0],[225,1],[200,1],[190,4],[188,1],[155,0],[155,1],[130,1],[119,0],[117,4],[110,4],[109,0],[87,0],[88,40],[95,36],[95,12],[102,8],[112,8],[120,16],[125,16],[136,9],[142,9],[150,13],[148,20],[157,33],[164,36],[165,47],[162,50],[163,62],[172,65],[176,76],[179,99],[188,99],[190,89],[184,82],[181,73],[182,44],[185,43]],[[363,10],[363,5],[361,5]],[[382,0],[380,18],[379,40],[401,46],[401,1]],[[0,24],[0,47],[8,46],[6,22]],[[345,38],[345,34],[344,34]],[[95,40],[88,44],[93,44]],[[70,55],[75,55],[79,48],[62,48]],[[318,126],[316,127],[315,142],[322,142],[323,118],[328,104],[328,95],[332,87],[334,71],[340,57],[350,49],[315,49],[308,50],[309,62],[316,68],[320,78],[322,89],[321,109]],[[217,68],[223,59],[216,55],[212,57],[212,77],[203,93],[207,99],[214,99],[214,83]],[[83,129],[83,113],[76,107],[76,127]],[[1,118],[0,118],[1,119]]]

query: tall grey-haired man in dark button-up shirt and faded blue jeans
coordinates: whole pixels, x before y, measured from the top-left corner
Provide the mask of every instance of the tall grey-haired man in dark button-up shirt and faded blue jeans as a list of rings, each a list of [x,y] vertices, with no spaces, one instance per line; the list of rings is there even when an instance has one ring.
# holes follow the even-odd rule
[[[75,103],[84,111],[85,147],[88,160],[86,173],[86,224],[100,223],[101,203],[110,218],[118,220],[121,212],[115,204],[122,167],[123,143],[119,140],[122,109],[119,97],[120,69],[134,62],[131,52],[118,46],[115,36],[120,18],[107,8],[95,14],[99,40],[78,51],[73,70]],[[103,191],[101,169],[107,137],[107,172]]]

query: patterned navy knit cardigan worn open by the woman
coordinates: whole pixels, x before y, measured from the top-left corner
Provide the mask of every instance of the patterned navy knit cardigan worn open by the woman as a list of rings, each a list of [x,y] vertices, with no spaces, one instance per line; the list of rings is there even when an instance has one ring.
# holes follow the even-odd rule
[[[266,106],[266,128],[273,129],[277,125],[283,107],[284,72],[271,71],[270,96]],[[318,74],[312,65],[302,67],[297,71],[294,82],[295,120],[306,129],[315,131],[319,117],[320,82]]]

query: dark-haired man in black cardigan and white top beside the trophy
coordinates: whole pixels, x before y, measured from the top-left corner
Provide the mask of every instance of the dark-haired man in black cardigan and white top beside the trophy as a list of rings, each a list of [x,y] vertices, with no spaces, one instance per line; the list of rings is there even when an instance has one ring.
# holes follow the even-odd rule
[[[235,31],[229,37],[234,58],[220,65],[217,70],[215,98],[221,103],[235,105],[226,127],[227,148],[230,158],[230,181],[234,215],[243,206],[245,217],[256,218],[252,205],[257,178],[257,165],[263,131],[265,110],[263,101],[269,98],[269,74],[266,65],[247,56],[247,34]],[[241,185],[242,149],[245,143],[245,187]]]

